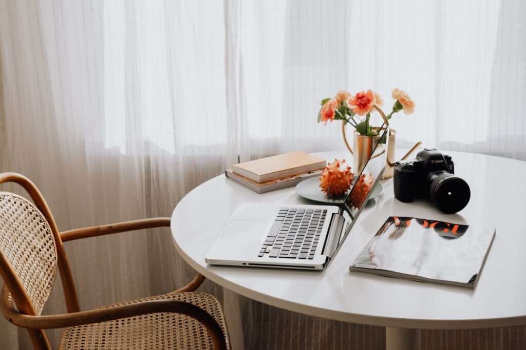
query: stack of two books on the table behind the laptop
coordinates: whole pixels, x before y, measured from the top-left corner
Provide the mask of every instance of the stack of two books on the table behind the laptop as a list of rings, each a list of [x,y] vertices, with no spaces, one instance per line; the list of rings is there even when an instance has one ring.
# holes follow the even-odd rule
[[[225,175],[257,193],[265,193],[320,176],[325,164],[326,160],[308,153],[291,152],[232,165]]]

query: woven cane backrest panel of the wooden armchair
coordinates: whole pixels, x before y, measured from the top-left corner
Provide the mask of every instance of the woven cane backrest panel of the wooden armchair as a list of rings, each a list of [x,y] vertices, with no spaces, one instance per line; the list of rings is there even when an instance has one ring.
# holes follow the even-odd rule
[[[9,192],[0,192],[0,254],[40,315],[56,276],[53,232],[40,210]]]

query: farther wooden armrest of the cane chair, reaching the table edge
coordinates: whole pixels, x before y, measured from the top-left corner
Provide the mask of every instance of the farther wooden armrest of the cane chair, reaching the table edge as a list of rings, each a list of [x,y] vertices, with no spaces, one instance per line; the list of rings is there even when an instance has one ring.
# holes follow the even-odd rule
[[[75,230],[60,232],[60,239],[62,239],[63,242],[67,242],[74,239],[104,236],[117,234],[118,232],[144,230],[155,227],[170,227],[170,218],[151,218],[118,222],[117,224],[78,228]]]

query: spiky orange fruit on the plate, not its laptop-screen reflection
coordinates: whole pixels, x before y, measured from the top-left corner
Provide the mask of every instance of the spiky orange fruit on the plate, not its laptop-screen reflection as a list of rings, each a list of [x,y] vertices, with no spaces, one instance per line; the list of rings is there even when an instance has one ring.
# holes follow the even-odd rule
[[[351,187],[353,176],[351,167],[347,166],[345,159],[342,161],[335,159],[321,172],[321,190],[329,197],[341,196]]]

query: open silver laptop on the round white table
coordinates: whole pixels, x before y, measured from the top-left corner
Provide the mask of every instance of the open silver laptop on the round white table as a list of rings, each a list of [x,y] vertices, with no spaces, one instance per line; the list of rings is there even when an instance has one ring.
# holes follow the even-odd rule
[[[321,270],[341,248],[387,161],[389,128],[358,178],[372,176],[367,193],[352,186],[341,206],[241,203],[206,253],[212,265]],[[356,174],[355,174],[356,175]]]

